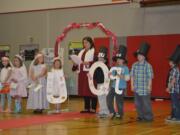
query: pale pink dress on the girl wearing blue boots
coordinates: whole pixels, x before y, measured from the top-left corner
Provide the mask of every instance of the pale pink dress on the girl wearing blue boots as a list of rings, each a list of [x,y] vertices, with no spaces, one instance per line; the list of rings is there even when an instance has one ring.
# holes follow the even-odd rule
[[[10,90],[10,95],[20,96],[20,97],[27,97],[27,70],[25,66],[20,68],[14,67],[12,70],[12,79],[17,80],[17,87],[15,89]]]

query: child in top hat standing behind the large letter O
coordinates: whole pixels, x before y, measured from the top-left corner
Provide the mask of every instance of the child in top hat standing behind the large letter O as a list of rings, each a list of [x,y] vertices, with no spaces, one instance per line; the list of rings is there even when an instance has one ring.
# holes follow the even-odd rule
[[[100,50],[99,50],[97,61],[101,61],[101,62],[103,62],[104,64],[106,64],[108,66],[107,51],[108,51],[107,48],[102,46],[100,48]],[[95,70],[93,79],[97,83],[97,88],[100,88],[101,86],[103,86],[104,73],[103,73],[103,71],[102,71],[102,69],[100,67],[98,67]],[[108,115],[109,115],[109,110],[108,110],[108,107],[107,107],[106,97],[107,97],[107,94],[103,94],[103,95],[98,96],[98,102],[99,102],[98,116],[100,118],[105,118],[105,117],[108,117]]]

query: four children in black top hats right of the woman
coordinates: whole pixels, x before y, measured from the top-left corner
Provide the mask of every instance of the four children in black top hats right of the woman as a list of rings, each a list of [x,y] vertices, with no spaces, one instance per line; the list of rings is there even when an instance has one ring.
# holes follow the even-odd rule
[[[147,43],[142,43],[140,48],[134,53],[137,58],[137,62],[132,65],[131,72],[129,72],[126,66],[126,52],[125,46],[119,46],[119,52],[113,57],[114,66],[116,71],[109,73],[109,76],[115,76],[111,78],[110,90],[107,95],[98,96],[99,101],[99,113],[98,116],[101,118],[111,117],[111,118],[123,118],[123,103],[124,94],[127,89],[127,81],[131,78],[131,90],[134,92],[135,106],[137,111],[137,121],[153,121],[153,112],[151,106],[151,91],[152,91],[152,79],[153,79],[153,69],[150,63],[147,61],[147,53],[150,46]],[[100,55],[104,53],[104,55]],[[104,47],[100,48],[98,61],[102,61],[107,65],[107,49]],[[179,121],[180,120],[180,71],[178,67],[178,62],[180,61],[180,45],[177,46],[176,51],[169,58],[169,64],[171,67],[167,91],[171,93],[172,100],[172,113],[171,116],[167,118],[168,121]],[[118,73],[118,68],[121,70]],[[95,81],[97,83],[97,88],[102,85],[105,80],[103,80],[103,73],[101,73],[100,68],[95,71]],[[117,83],[117,78],[119,79],[119,84]],[[119,90],[119,91],[118,91]],[[114,102],[115,101],[115,102]],[[114,105],[116,103],[116,105]],[[117,111],[115,111],[117,108]]]

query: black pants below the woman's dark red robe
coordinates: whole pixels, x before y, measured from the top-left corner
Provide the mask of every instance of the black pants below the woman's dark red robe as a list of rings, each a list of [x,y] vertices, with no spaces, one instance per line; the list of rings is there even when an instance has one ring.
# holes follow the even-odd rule
[[[97,106],[97,97],[84,97],[84,109],[96,110],[96,106]]]

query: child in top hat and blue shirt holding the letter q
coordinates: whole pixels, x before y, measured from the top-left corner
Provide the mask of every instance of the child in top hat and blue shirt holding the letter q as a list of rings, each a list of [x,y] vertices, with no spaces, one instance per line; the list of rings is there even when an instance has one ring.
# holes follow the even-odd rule
[[[117,67],[119,70],[121,70],[121,73],[119,74],[118,71],[112,71],[110,75],[117,76],[119,80],[118,89],[122,92],[117,93],[116,92],[116,79],[112,80],[111,82],[111,90],[109,91],[107,95],[107,104],[110,111],[110,117],[111,118],[123,118],[124,111],[123,111],[123,105],[124,105],[124,94],[125,90],[127,88],[127,81],[130,79],[129,75],[129,69],[126,66],[126,52],[127,48],[123,45],[119,46],[119,52],[116,54],[116,56],[113,57],[113,61],[115,62],[115,67]],[[118,112],[116,113],[114,110],[114,98],[116,100],[116,105]]]

